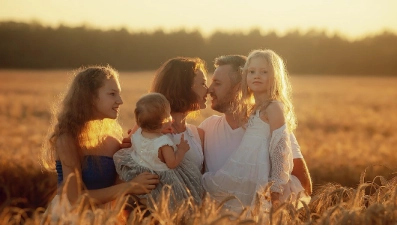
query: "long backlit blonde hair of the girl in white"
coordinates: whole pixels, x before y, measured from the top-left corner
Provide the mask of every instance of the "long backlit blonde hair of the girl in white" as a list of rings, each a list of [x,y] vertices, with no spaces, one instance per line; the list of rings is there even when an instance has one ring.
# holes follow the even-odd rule
[[[270,79],[270,96],[269,99],[264,99],[264,101],[272,101],[277,100],[283,103],[284,105],[284,116],[287,128],[289,131],[293,131],[297,126],[296,116],[294,112],[294,107],[292,105],[292,87],[289,81],[289,75],[284,64],[283,59],[272,50],[254,50],[252,51],[248,57],[247,62],[243,68],[243,79],[242,79],[242,94],[244,100],[249,105],[253,105],[253,93],[248,88],[247,84],[247,69],[251,63],[253,58],[261,57],[265,59],[271,71],[273,72],[273,77]],[[255,107],[250,107],[251,110]],[[256,106],[258,107],[258,106]],[[251,113],[251,112],[249,112]]]

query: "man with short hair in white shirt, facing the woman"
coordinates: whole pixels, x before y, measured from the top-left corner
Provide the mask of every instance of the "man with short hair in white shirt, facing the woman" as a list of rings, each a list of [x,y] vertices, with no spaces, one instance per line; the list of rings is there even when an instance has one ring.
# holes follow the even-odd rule
[[[211,108],[223,113],[205,119],[199,128],[205,132],[204,159],[206,171],[216,172],[227,161],[229,156],[237,150],[244,136],[245,130],[241,128],[236,116],[241,96],[238,88],[241,83],[241,70],[246,61],[245,56],[227,55],[215,59],[215,71],[208,93],[212,97]],[[300,151],[295,136],[291,135],[294,168],[292,174],[296,176],[311,195],[312,183],[306,162]]]

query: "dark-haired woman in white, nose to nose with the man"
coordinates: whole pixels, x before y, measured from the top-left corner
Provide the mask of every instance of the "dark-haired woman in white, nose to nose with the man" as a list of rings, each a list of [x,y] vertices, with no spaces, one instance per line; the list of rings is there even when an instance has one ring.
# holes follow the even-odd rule
[[[179,144],[181,135],[189,143],[185,158],[203,171],[204,131],[186,123],[187,116],[206,108],[207,77],[205,62],[199,58],[178,57],[169,59],[156,73],[150,92],[163,94],[171,105],[173,132],[168,136]]]

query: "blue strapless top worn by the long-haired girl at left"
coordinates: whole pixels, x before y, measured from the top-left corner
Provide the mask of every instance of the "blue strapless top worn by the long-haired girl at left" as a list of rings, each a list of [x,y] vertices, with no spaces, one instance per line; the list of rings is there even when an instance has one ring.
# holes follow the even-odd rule
[[[86,166],[81,171],[82,180],[88,190],[107,188],[114,185],[117,172],[112,157],[109,156],[85,156]],[[98,167],[100,165],[100,167]],[[58,174],[58,187],[63,182],[63,171],[60,160],[55,161]]]

